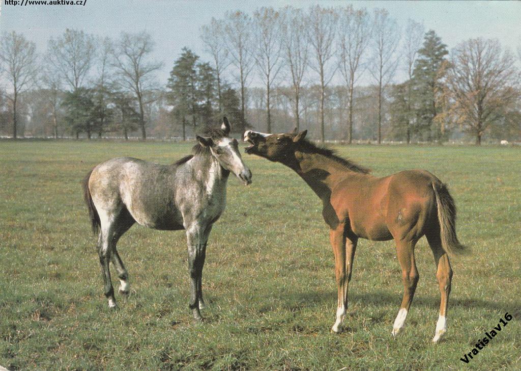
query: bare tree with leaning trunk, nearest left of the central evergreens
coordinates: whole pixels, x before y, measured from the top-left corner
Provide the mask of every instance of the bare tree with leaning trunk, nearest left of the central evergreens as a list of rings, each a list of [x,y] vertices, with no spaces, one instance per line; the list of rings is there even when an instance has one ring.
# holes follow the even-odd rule
[[[124,90],[132,92],[139,106],[139,127],[141,138],[146,139],[145,95],[152,89],[154,72],[162,68],[161,63],[147,61],[154,42],[145,31],[139,33],[122,32],[114,47],[113,66],[117,69],[117,83]]]

